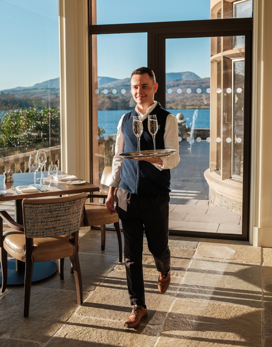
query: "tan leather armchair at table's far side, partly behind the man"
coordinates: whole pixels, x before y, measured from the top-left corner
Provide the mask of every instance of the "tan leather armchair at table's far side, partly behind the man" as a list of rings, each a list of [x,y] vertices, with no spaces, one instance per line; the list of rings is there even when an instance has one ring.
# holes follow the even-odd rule
[[[105,251],[106,244],[106,224],[114,224],[119,246],[119,262],[122,262],[123,252],[122,252],[122,239],[121,231],[119,226],[118,213],[110,214],[105,205],[106,198],[109,192],[109,184],[111,182],[111,167],[106,166],[103,170],[100,185],[99,194],[89,194],[88,198],[100,198],[100,202],[90,202],[85,203],[84,218],[82,226],[94,226],[100,225],[101,228],[101,251]],[[118,198],[116,196],[117,189],[115,189],[115,201],[116,211],[118,212]]]

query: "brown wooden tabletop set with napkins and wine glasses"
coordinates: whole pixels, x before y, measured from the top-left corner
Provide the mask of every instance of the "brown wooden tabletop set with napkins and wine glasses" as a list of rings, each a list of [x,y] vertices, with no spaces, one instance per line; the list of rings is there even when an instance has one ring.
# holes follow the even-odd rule
[[[46,171],[45,171],[46,172]],[[65,174],[65,172],[58,171],[58,174]],[[83,183],[79,185],[72,185],[68,183],[58,182],[52,179],[52,184],[50,188],[46,188],[48,192],[35,192],[35,193],[20,193],[17,194],[13,192],[11,186],[28,186],[34,183],[34,174],[33,172],[25,172],[23,174],[13,174],[13,182],[4,183],[4,175],[0,175],[0,190],[7,191],[6,194],[0,196],[1,201],[9,201],[9,200],[22,200],[28,197],[40,197],[40,196],[54,196],[54,195],[64,195],[64,194],[77,194],[84,192],[98,192],[99,187],[91,184],[91,183]],[[36,174],[36,177],[40,177],[40,172]],[[39,182],[37,181],[37,184]]]

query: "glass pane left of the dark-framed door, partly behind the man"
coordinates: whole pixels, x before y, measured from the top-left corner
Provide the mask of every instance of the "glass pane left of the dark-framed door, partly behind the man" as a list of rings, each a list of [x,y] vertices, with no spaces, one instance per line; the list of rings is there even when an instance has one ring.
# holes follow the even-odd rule
[[[130,93],[133,70],[147,65],[147,34],[92,35],[93,177],[99,180],[115,155],[118,122],[136,103]],[[141,54],[135,54],[140,47]]]

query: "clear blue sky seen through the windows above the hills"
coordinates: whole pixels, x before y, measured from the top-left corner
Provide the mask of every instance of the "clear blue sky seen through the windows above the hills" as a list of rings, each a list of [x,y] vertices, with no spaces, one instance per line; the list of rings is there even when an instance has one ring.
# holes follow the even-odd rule
[[[97,0],[97,23],[208,19],[210,0]],[[59,77],[58,1],[0,0],[0,90]],[[166,72],[210,75],[209,39],[166,41]],[[135,54],[137,52],[137,54]],[[200,53],[201,52],[201,53]],[[206,58],[207,57],[207,58]],[[129,77],[147,64],[146,33],[100,35],[98,75]]]

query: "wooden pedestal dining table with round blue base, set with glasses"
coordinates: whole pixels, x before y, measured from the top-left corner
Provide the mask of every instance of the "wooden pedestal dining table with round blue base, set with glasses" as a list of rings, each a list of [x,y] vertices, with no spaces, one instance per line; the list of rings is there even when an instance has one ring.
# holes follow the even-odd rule
[[[44,174],[46,171],[44,171]],[[65,175],[65,172],[58,171],[59,175]],[[81,184],[70,184],[65,181],[58,181],[52,179],[51,186],[45,188],[46,191],[42,192],[37,190],[37,192],[30,193],[16,193],[12,190],[12,186],[29,186],[33,185],[34,175],[33,172],[25,172],[21,174],[13,174],[12,182],[4,182],[4,175],[0,175],[0,190],[4,194],[0,194],[0,210],[1,202],[7,202],[14,200],[15,206],[15,221],[20,224],[24,224],[23,214],[22,214],[22,200],[24,198],[37,198],[37,197],[47,197],[47,196],[62,196],[66,194],[78,194],[78,193],[91,193],[98,192],[99,187],[91,183],[85,182]],[[59,176],[60,177],[60,176]],[[39,181],[37,180],[39,185]],[[11,257],[10,257],[11,258]],[[36,282],[51,276],[57,270],[57,264],[54,261],[47,262],[36,262],[34,263],[32,282]],[[0,273],[0,283],[2,282],[2,276]],[[25,263],[22,261],[15,260],[13,258],[8,260],[8,280],[7,285],[19,285],[25,282]]]

